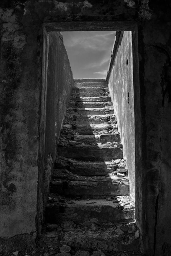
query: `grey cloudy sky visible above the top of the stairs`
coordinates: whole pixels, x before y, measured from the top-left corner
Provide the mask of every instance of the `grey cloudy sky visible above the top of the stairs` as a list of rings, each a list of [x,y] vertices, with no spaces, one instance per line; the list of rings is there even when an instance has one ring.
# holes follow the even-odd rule
[[[106,78],[115,31],[61,32],[74,78]]]

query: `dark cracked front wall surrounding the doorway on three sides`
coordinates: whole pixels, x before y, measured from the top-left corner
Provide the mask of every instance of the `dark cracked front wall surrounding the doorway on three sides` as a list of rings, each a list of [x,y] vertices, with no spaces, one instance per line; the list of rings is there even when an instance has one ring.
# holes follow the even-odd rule
[[[133,2],[133,1],[132,1]],[[42,24],[53,22],[137,22],[140,77],[141,162],[136,208],[141,250],[170,253],[170,102],[167,56],[170,2],[4,1],[1,15],[1,236],[36,231]],[[129,3],[129,5],[128,5]],[[103,29],[105,26],[103,27]],[[40,193],[40,197],[43,197]]]

